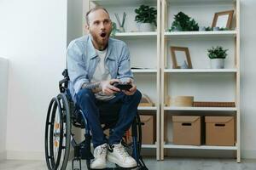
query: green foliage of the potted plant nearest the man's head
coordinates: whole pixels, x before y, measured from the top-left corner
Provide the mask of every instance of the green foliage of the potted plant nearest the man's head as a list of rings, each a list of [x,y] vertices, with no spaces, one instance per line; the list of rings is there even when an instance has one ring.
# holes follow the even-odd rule
[[[148,5],[141,5],[139,8],[136,8],[135,21],[141,23],[152,23],[156,26],[156,14],[157,11],[154,7],[149,7]]]

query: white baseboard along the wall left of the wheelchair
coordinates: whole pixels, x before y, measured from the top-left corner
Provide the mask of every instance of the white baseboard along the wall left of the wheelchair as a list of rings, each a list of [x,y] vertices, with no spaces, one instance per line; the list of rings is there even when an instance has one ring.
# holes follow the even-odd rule
[[[6,151],[7,160],[33,160],[33,161],[43,161],[44,152],[40,151],[17,151],[17,150],[7,150]]]

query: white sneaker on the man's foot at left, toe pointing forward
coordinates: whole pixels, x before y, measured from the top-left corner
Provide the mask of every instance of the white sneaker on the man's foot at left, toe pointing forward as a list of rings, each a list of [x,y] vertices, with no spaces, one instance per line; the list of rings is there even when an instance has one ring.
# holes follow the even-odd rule
[[[94,160],[90,163],[92,169],[106,168],[107,144],[98,145],[93,152]]]

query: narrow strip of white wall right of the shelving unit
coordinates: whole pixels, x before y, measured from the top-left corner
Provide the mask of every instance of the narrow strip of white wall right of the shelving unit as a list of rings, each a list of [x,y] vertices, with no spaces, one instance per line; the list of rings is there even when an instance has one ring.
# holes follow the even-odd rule
[[[241,0],[241,156],[256,158],[256,1]]]

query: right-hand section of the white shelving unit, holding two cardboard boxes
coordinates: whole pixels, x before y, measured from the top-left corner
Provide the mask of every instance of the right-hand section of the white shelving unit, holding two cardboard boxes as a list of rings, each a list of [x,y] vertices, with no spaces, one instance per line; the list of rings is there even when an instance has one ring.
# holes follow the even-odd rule
[[[234,9],[234,26],[230,31],[168,31],[174,14],[189,14],[199,26],[211,26],[213,15]],[[240,147],[240,1],[239,0],[162,0],[161,3],[161,88],[160,88],[160,159],[166,151],[231,150],[241,161]],[[221,45],[228,48],[224,69],[209,69],[207,48]],[[172,69],[170,46],[188,47],[193,69]],[[221,88],[220,88],[221,87]],[[166,105],[168,96],[194,96],[195,101],[234,101],[236,107],[178,107]],[[195,114],[236,116],[236,145],[172,144],[171,116]],[[167,126],[168,125],[168,126]],[[168,137],[168,138],[166,138]]]

